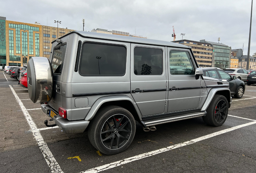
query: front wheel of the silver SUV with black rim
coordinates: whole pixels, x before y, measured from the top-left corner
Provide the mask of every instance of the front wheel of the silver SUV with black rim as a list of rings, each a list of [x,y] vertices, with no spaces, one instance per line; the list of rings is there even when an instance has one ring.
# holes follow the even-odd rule
[[[221,126],[225,123],[228,114],[228,102],[223,95],[215,95],[211,101],[204,122],[211,126]]]

